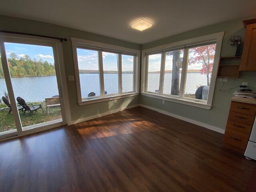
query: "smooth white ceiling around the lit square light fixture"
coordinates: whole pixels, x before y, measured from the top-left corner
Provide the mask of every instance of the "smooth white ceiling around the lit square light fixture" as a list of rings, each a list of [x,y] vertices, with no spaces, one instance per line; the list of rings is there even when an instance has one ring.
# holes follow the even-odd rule
[[[256,14],[256,0],[1,0],[0,14],[144,44]],[[145,19],[152,28],[131,24]]]

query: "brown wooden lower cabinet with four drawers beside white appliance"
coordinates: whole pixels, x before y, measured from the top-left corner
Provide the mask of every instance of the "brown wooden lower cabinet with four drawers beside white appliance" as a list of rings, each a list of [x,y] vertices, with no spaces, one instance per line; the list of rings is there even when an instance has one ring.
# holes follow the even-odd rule
[[[231,102],[223,145],[244,154],[256,113],[256,105]]]

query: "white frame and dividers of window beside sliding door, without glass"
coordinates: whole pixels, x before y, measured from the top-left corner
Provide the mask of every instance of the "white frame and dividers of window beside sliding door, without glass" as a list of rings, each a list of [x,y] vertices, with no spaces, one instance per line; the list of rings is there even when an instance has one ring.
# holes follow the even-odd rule
[[[92,104],[97,102],[104,102],[110,101],[120,98],[127,98],[136,96],[139,94],[139,82],[140,82],[140,50],[125,48],[122,46],[116,46],[101,42],[95,42],[90,40],[84,40],[79,38],[71,37],[72,41],[72,50],[73,50],[73,58],[74,58],[74,70],[75,70],[75,77],[76,77],[76,90],[77,90],[77,97],[78,97],[78,104],[79,105],[86,105]],[[98,50],[98,60],[99,60],[99,76],[100,76],[100,96],[89,97],[89,98],[82,98],[81,94],[81,87],[80,87],[80,77],[79,77],[79,68],[78,68],[78,58],[77,58],[77,51],[76,48],[84,47],[84,49],[92,49],[91,47],[97,47],[101,50]],[[104,94],[104,74],[103,74],[103,59],[102,59],[102,49],[103,52],[107,52],[108,50],[113,50],[114,53],[118,54],[118,93],[117,94]],[[93,49],[92,49],[93,50]],[[134,90],[132,92],[122,92],[122,54],[134,54],[134,70],[133,70],[133,79],[134,79]]]

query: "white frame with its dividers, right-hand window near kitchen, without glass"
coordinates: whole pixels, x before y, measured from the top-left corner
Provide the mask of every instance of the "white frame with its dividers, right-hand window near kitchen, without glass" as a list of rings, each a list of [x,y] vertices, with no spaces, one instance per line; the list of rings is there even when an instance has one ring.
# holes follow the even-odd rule
[[[210,109],[212,107],[212,99],[214,94],[214,87],[216,83],[216,77],[217,77],[217,70],[218,70],[218,64],[220,60],[220,50],[222,45],[222,38],[224,36],[224,32],[214,33],[210,35],[205,35],[201,37],[196,37],[192,39],[182,40],[179,42],[173,42],[170,44],[165,44],[161,46],[157,46],[154,48],[149,48],[142,50],[142,70],[141,70],[141,95],[148,96],[151,98],[156,98],[160,100],[166,100],[170,102],[176,102],[180,104],[195,106],[199,108],[204,109]],[[216,49],[215,49],[215,56],[214,56],[214,64],[212,67],[212,76],[211,76],[211,82],[210,82],[210,88],[208,93],[208,100],[200,100],[200,99],[193,99],[193,98],[184,98],[184,90],[185,90],[185,84],[186,84],[186,75],[187,75],[187,67],[188,67],[188,54],[184,54],[186,58],[183,58],[183,65],[182,65],[182,74],[181,74],[181,81],[180,81],[180,90],[181,93],[179,96],[175,95],[166,95],[162,93],[163,90],[163,82],[164,82],[164,75],[163,75],[163,69],[164,69],[164,51],[168,49],[184,49],[184,52],[188,52],[189,48],[186,48],[185,45],[191,46],[201,46],[205,42],[215,42],[216,43]],[[183,47],[183,48],[182,48]],[[160,88],[159,93],[153,93],[147,91],[147,79],[148,79],[148,53],[156,54],[160,53],[162,50],[162,57],[161,57],[161,72],[160,72]]]

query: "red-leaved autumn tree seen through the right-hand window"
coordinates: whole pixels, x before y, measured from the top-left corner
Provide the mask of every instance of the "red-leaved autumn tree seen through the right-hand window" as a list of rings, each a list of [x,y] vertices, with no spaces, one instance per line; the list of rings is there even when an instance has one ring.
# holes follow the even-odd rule
[[[189,60],[188,64],[202,64],[200,69],[201,74],[206,74],[207,85],[210,85],[210,79],[212,74],[212,66],[214,62],[216,44],[200,46],[189,49]]]

